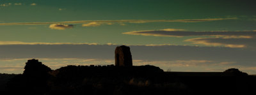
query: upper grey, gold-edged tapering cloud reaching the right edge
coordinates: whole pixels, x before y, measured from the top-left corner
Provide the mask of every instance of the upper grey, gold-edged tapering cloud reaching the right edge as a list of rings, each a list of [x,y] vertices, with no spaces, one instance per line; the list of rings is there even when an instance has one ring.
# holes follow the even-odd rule
[[[143,36],[215,36],[221,38],[252,38],[256,36],[255,31],[186,31],[184,29],[162,29],[150,31],[131,31],[123,34],[143,35]]]

